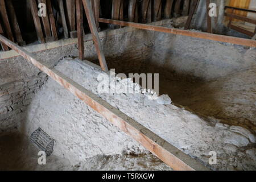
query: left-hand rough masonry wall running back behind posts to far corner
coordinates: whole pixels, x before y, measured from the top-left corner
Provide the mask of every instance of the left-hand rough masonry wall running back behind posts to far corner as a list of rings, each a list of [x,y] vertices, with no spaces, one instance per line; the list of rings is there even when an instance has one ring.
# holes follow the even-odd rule
[[[114,34],[108,36],[108,32],[111,31],[106,32],[107,36],[102,38],[101,42],[109,68],[119,68],[118,72],[137,72],[151,51],[149,39],[144,39],[146,33],[114,30]],[[53,67],[63,57],[77,57],[77,53],[77,44],[72,44],[38,52],[35,56]],[[85,58],[99,64],[92,40],[85,42]],[[27,106],[48,77],[21,56],[0,60],[0,73],[2,134],[4,131],[18,128],[20,122],[24,121]]]

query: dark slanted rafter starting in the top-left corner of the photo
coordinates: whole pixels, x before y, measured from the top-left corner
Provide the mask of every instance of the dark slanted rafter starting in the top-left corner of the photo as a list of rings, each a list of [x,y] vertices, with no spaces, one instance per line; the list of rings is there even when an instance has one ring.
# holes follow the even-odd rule
[[[9,18],[6,11],[5,0],[0,0],[0,14],[2,16],[3,26],[5,27],[6,35],[11,41],[14,42],[13,32],[11,31]]]

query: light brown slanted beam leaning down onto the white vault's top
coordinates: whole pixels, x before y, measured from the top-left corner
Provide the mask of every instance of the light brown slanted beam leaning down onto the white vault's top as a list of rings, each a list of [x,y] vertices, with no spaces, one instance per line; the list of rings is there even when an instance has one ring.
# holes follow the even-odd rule
[[[85,14],[89,23],[90,32],[92,32],[93,42],[96,47],[98,60],[100,61],[101,68],[107,72],[108,65],[106,64],[103,48],[101,46],[101,40],[100,40],[100,37],[98,36],[95,19],[92,13],[92,3],[90,0],[82,0],[82,3],[84,4]]]

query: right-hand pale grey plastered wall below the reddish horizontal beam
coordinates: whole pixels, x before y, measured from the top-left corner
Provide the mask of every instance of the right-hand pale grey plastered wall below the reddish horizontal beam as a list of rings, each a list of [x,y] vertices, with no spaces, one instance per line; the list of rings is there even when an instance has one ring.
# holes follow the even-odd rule
[[[256,64],[256,48],[160,32],[151,34],[150,61],[141,72],[160,72],[175,80],[214,80]]]

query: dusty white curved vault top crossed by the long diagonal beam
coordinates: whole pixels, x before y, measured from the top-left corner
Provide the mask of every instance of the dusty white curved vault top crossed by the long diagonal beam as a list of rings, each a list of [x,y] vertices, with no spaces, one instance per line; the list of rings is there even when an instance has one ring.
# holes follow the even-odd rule
[[[250,142],[254,135],[250,131],[245,134],[228,125],[211,126],[187,110],[158,104],[144,94],[98,94],[97,76],[102,72],[78,60],[63,60],[56,69],[205,164],[209,151],[216,151],[217,165],[208,165],[210,168],[256,169],[255,145]],[[56,140],[54,154],[69,160],[145,152],[140,144],[51,79],[32,101],[27,122],[22,125],[26,134],[41,127]]]

